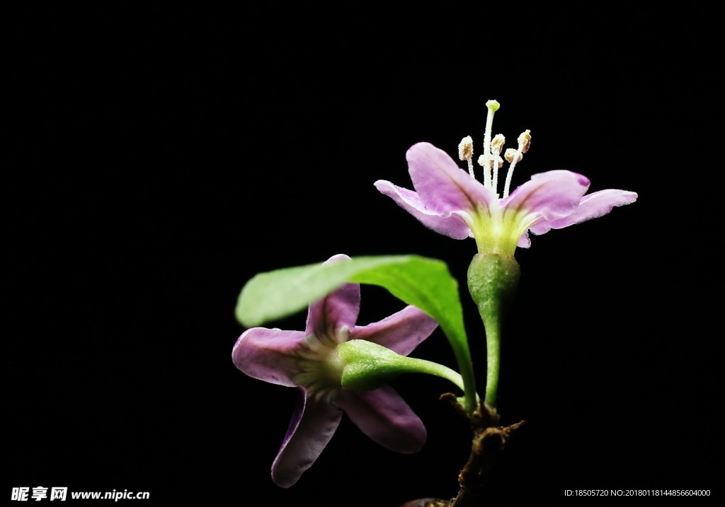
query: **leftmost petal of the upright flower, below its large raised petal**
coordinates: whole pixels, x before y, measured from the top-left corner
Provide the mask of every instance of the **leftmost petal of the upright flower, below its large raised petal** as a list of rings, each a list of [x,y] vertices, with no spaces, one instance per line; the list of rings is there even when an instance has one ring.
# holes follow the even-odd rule
[[[375,186],[381,193],[392,198],[398,206],[412,214],[428,229],[456,240],[463,240],[471,235],[471,228],[461,217],[450,211],[438,213],[427,209],[421,202],[421,198],[413,190],[398,187],[386,180],[376,181]]]

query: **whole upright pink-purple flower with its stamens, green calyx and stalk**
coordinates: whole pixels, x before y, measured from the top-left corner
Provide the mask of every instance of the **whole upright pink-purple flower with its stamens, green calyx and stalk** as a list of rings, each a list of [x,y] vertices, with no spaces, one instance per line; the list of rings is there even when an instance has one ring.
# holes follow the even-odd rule
[[[556,170],[533,175],[509,195],[513,169],[529,150],[531,133],[518,137],[518,147],[503,151],[505,138],[492,138],[497,101],[486,102],[484,153],[479,157],[483,183],[473,172],[473,141],[463,138],[458,156],[468,172],[444,151],[429,143],[413,145],[406,154],[413,190],[378,180],[376,188],[413,214],[423,225],[455,239],[473,236],[478,254],[468,267],[468,290],[486,328],[486,397],[494,406],[500,362],[500,327],[521,274],[514,258],[517,246],[531,245],[529,231],[544,234],[608,214],[614,206],[631,204],[637,194],[600,190],[587,194],[589,180],[576,172]],[[503,153],[503,158],[500,156]],[[504,159],[508,173],[499,196],[498,171]]]

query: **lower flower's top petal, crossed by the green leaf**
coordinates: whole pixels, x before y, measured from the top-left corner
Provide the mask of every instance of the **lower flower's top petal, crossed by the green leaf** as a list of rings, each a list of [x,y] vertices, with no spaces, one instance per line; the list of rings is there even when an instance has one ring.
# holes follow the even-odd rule
[[[338,262],[349,259],[347,255],[339,254],[332,256],[325,261]],[[346,283],[339,289],[329,293],[320,301],[310,305],[307,311],[307,326],[305,331],[315,336],[325,336],[329,332],[335,332],[342,326],[350,329],[357,322],[357,315],[360,313],[360,285],[357,283]]]

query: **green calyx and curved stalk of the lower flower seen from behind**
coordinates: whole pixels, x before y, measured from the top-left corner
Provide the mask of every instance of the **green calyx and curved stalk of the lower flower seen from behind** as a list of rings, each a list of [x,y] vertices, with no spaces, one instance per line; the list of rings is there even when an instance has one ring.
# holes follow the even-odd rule
[[[350,340],[337,346],[340,358],[347,363],[342,370],[343,389],[367,391],[386,385],[404,373],[427,373],[450,380],[463,390],[460,374],[433,361],[401,356],[399,353],[367,340]]]

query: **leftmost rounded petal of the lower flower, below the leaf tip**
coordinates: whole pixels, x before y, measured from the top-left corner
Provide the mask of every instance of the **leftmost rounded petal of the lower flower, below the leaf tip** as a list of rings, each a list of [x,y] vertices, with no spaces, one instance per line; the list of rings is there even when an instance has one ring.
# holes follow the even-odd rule
[[[299,373],[293,353],[304,340],[302,331],[252,327],[236,340],[231,359],[249,377],[293,387],[292,377]]]

